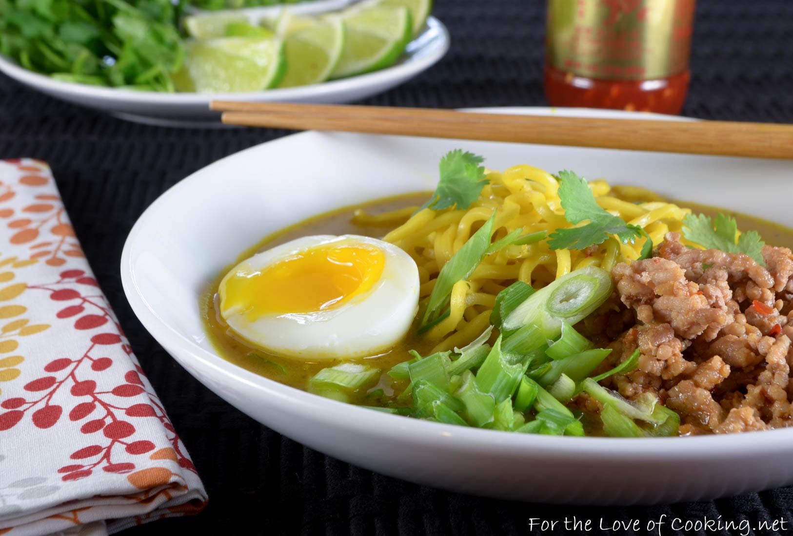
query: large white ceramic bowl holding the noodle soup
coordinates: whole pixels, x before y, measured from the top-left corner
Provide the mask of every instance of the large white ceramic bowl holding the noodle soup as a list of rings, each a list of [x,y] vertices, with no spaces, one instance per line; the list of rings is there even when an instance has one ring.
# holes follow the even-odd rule
[[[198,296],[239,253],[312,215],[430,190],[439,158],[457,147],[484,155],[494,169],[519,163],[573,169],[793,226],[785,201],[793,197],[789,162],[305,132],[224,158],[152,203],[121,257],[132,310],[190,374],[255,420],[335,458],[420,484],[541,502],[647,504],[793,483],[793,429],[611,439],[455,427],[317,397],[216,355],[201,325]],[[778,201],[769,203],[768,192]]]

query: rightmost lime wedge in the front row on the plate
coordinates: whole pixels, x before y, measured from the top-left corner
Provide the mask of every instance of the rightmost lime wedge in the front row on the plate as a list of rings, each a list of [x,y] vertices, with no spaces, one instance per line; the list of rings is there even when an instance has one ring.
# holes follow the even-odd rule
[[[331,78],[391,66],[404,52],[412,36],[410,11],[406,7],[370,7],[342,15],[347,40]]]

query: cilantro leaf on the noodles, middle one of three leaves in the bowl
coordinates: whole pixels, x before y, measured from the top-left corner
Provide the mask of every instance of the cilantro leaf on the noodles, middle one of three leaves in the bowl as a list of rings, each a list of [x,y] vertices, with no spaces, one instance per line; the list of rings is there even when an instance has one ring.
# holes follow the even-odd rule
[[[559,199],[565,209],[565,219],[573,225],[584,221],[588,223],[571,229],[555,230],[549,237],[550,249],[588,248],[590,245],[602,244],[609,234],[615,234],[623,244],[633,244],[642,237],[642,227],[626,223],[597,204],[587,181],[572,171],[560,171],[559,178]]]

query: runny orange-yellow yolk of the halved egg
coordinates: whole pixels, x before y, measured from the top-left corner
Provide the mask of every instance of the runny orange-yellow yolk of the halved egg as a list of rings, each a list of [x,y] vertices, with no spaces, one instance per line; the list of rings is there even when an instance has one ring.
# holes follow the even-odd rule
[[[385,254],[370,245],[320,245],[261,270],[238,270],[225,281],[220,308],[248,321],[333,309],[370,291],[384,264]]]

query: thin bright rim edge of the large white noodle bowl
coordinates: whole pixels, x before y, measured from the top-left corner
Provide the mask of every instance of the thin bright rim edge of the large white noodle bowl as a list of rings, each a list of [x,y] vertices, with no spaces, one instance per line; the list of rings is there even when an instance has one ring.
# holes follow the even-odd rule
[[[466,108],[470,112],[496,112],[496,113],[528,113],[534,115],[550,115],[557,112],[555,108],[546,107],[510,107],[510,108]],[[612,118],[638,118],[653,119],[657,114],[643,112],[623,112],[615,110],[594,110],[589,108],[565,108],[564,115],[584,114],[588,116],[602,116]],[[657,116],[658,120],[695,120],[688,117],[677,116]],[[248,147],[245,150],[230,154],[221,158],[202,169],[197,170],[190,176],[182,179],[174,186],[163,192],[147,209],[140,215],[125,241],[124,249],[121,253],[121,283],[125,295],[132,306],[132,311],[136,314],[140,322],[149,333],[154,336],[163,347],[182,348],[191,359],[197,359],[206,366],[212,367],[219,374],[231,377],[236,382],[244,382],[249,386],[254,386],[267,396],[280,397],[289,400],[293,409],[301,409],[301,412],[312,412],[315,417],[327,418],[338,422],[339,426],[352,427],[359,430],[366,430],[368,434],[393,436],[395,429],[409,431],[417,442],[430,443],[452,450],[496,450],[501,453],[526,454],[528,452],[542,453],[552,451],[562,454],[583,454],[587,458],[614,458],[619,455],[629,460],[646,460],[661,456],[665,459],[677,458],[707,458],[713,459],[721,456],[734,456],[737,448],[749,447],[754,454],[761,454],[764,450],[776,450],[781,442],[789,444],[793,439],[793,428],[777,428],[775,430],[750,432],[730,435],[698,435],[693,437],[675,438],[610,438],[610,437],[571,437],[571,436],[552,436],[519,434],[515,432],[504,432],[488,430],[485,428],[469,428],[454,426],[452,424],[434,423],[427,420],[413,419],[406,416],[392,415],[385,412],[377,412],[372,409],[362,408],[357,405],[345,404],[334,401],[319,395],[299,390],[295,387],[286,386],[269,378],[260,376],[247,371],[242,367],[223,359],[220,355],[209,352],[201,348],[193,340],[181,333],[168,328],[163,321],[149,308],[147,302],[137,291],[134,270],[131,259],[131,249],[136,241],[140,240],[140,234],[147,226],[147,219],[152,214],[159,211],[159,206],[174,196],[178,196],[182,189],[193,188],[201,181],[209,180],[212,177],[207,170],[215,166],[224,165],[228,158],[235,158],[236,155],[247,151],[260,150],[262,145],[293,143],[296,136],[310,135],[312,131],[301,132],[298,134],[287,135],[283,138],[275,139],[270,142],[261,143],[256,146]],[[206,177],[206,178],[205,178]],[[170,352],[169,352],[170,353]],[[176,359],[176,358],[174,358]],[[178,361],[178,359],[177,359]],[[297,406],[296,406],[297,404]],[[762,434],[764,441],[757,441],[754,438]],[[773,439],[769,441],[768,439]],[[585,443],[584,443],[585,442]],[[585,450],[582,450],[582,447]]]

